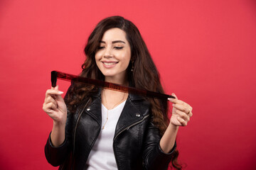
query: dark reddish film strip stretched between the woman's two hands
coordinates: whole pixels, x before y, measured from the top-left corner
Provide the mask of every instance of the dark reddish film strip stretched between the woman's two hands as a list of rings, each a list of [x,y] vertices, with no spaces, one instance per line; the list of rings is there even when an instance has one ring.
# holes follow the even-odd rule
[[[52,71],[51,72],[51,83],[52,83],[53,87],[56,86],[57,79],[62,79],[65,81],[76,81],[76,82],[80,82],[80,83],[100,86],[105,89],[111,89],[114,91],[122,91],[125,93],[137,94],[140,96],[146,96],[146,97],[151,97],[151,98],[160,98],[160,99],[165,99],[165,100],[167,100],[167,98],[175,98],[174,96],[171,96],[168,94],[160,94],[160,93],[156,93],[154,91],[146,91],[146,90],[142,90],[142,89],[136,89],[134,87],[121,86],[119,84],[112,84],[107,81],[100,81],[100,80],[96,80],[96,79],[79,77],[79,76],[75,76],[73,74],[67,74],[64,72]]]

